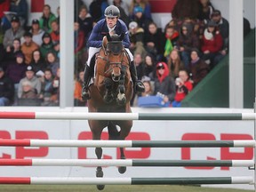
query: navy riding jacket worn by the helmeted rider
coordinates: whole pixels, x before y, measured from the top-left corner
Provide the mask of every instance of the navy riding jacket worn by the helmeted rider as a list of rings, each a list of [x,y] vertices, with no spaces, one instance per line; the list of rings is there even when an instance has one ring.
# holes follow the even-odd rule
[[[130,46],[130,39],[128,36],[128,29],[124,23],[123,20],[117,20],[116,22],[116,28],[115,28],[116,34],[121,35],[124,33],[124,48],[129,48]],[[102,39],[104,36],[106,36],[108,33],[108,26],[107,21],[105,19],[99,20],[97,24],[92,29],[92,33],[88,39],[88,47],[96,47],[99,48],[102,45]]]

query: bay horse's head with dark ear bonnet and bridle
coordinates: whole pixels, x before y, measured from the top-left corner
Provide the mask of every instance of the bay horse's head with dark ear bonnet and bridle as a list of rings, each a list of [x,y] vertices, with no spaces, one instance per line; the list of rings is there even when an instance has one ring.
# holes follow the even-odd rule
[[[126,62],[124,60],[124,46],[123,41],[124,33],[120,36],[114,34],[110,36],[104,36],[103,38],[103,49],[105,50],[105,54],[107,55],[107,61],[110,66],[108,68],[107,73],[111,71],[111,76],[113,81],[118,82],[120,80],[120,76],[122,74],[122,63]]]

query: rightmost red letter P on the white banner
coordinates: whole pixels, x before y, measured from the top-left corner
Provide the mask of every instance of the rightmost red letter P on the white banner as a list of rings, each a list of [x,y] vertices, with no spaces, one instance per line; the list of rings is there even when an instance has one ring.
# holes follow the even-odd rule
[[[220,140],[253,140],[248,134],[220,134]],[[231,148],[220,148],[221,160],[252,160],[253,148],[244,148],[243,152],[231,152]],[[221,170],[229,170],[229,167],[221,167]]]

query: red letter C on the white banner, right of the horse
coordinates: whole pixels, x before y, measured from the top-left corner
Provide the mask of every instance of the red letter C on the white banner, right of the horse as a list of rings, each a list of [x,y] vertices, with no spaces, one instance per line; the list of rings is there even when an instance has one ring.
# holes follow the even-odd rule
[[[216,140],[215,136],[211,133],[186,133],[182,136],[181,140]],[[181,159],[191,160],[191,148],[181,148]],[[207,160],[214,160],[216,158],[211,156],[206,156]],[[211,170],[214,167],[191,167],[187,166],[186,169],[204,169]]]

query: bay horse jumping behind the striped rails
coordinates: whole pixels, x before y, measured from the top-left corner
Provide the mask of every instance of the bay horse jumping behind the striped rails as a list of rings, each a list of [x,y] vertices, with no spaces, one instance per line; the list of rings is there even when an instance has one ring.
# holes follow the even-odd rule
[[[130,73],[130,57],[122,44],[124,34],[103,37],[100,52],[95,56],[95,77],[89,91],[89,113],[132,113],[133,84]],[[110,114],[109,114],[110,115]],[[111,115],[110,115],[111,116]],[[92,132],[92,140],[100,140],[101,132],[108,127],[108,140],[125,140],[132,129],[132,120],[88,120]],[[117,129],[116,125],[119,127]],[[102,156],[102,148],[95,148],[98,159]],[[124,148],[120,148],[120,158],[125,159]],[[118,168],[120,173],[126,167]],[[96,177],[103,177],[102,167],[96,169]],[[97,185],[103,189],[104,185]]]

